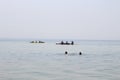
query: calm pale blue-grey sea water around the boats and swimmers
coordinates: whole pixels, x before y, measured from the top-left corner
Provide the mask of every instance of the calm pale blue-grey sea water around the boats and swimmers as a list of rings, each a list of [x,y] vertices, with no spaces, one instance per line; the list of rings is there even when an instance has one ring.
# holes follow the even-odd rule
[[[120,80],[120,41],[55,42],[0,41],[0,80]]]

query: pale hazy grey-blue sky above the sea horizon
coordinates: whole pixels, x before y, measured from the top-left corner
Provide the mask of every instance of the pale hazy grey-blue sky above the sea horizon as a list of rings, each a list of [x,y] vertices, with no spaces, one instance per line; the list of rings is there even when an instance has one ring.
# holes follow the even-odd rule
[[[0,38],[120,40],[120,0],[0,0]]]

